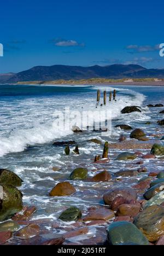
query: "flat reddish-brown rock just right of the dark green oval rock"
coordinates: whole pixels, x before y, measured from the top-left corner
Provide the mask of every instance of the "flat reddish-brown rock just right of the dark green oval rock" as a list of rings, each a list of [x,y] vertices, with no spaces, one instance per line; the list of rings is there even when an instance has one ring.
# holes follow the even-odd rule
[[[106,208],[99,208],[91,211],[85,218],[84,221],[88,220],[109,220],[113,219],[115,214],[113,211]]]

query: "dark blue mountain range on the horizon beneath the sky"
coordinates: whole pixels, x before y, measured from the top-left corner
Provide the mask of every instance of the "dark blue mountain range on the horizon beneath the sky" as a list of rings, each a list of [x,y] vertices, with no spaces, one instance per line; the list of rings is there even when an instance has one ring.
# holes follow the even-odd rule
[[[91,78],[164,78],[164,69],[147,69],[139,65],[110,66],[37,66],[17,74],[0,75],[1,83],[17,83],[25,81],[80,80]]]

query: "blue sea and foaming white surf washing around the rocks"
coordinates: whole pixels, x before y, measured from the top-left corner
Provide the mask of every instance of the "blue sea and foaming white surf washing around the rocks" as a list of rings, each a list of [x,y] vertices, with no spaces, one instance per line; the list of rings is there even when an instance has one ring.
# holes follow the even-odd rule
[[[102,136],[101,132],[85,131],[73,133],[71,130],[57,130],[53,126],[54,111],[70,107],[71,110],[95,110],[97,89],[117,90],[116,102],[107,102],[106,107],[97,110],[112,111],[112,135]],[[105,141],[118,142],[123,133],[114,129],[116,124],[128,124],[142,128],[148,135],[162,134],[163,127],[156,124],[163,119],[159,114],[163,108],[148,108],[147,104],[163,103],[164,88],[153,86],[29,86],[0,85],[0,167],[7,168],[18,174],[24,181],[21,191],[24,194],[24,205],[35,205],[37,212],[33,219],[49,218],[57,220],[60,213],[69,206],[77,206],[85,216],[90,206],[103,205],[102,195],[112,185],[119,181],[106,183],[91,183],[72,181],[77,193],[67,197],[49,197],[50,190],[58,182],[69,181],[69,174],[74,168],[83,166],[89,170],[89,176],[100,170],[114,173],[125,168],[136,168],[132,162],[115,161],[120,150],[111,150],[109,164],[95,165],[95,155],[102,154]],[[142,113],[120,114],[125,106],[141,106]],[[151,121],[151,125],[145,125]],[[158,130],[157,130],[158,129]],[[124,132],[130,135],[130,131]],[[87,142],[90,138],[102,141],[102,146]],[[154,141],[157,138],[152,137]],[[74,140],[79,145],[80,155],[73,153],[66,156],[64,147],[54,147],[53,142]],[[150,150],[139,150],[149,153]],[[61,167],[58,172],[52,167]],[[163,160],[145,160],[144,166],[149,171],[163,170]],[[131,183],[138,178],[131,178]],[[128,185],[129,179],[123,179]],[[61,223],[61,227],[66,224]],[[68,224],[69,225],[69,224]],[[49,225],[48,225],[49,228]],[[53,232],[63,232],[62,228]],[[95,235],[98,229],[91,227],[90,235]],[[83,237],[82,237],[83,238]],[[77,238],[83,240],[82,238]],[[85,237],[86,238],[86,237]],[[73,238],[72,238],[73,239]],[[71,242],[74,242],[75,238]],[[16,241],[19,243],[19,241]]]

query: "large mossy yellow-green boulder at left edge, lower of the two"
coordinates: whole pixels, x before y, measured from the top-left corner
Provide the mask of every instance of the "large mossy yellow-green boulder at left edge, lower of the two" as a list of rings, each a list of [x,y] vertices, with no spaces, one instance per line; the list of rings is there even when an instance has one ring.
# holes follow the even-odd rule
[[[3,198],[0,200],[0,222],[3,222],[22,210],[22,193],[10,185],[0,188],[3,188]]]

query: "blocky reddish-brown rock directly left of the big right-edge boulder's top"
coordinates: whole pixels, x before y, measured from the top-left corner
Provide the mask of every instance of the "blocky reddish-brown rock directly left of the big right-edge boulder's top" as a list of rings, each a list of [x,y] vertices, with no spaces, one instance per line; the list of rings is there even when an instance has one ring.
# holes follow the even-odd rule
[[[116,213],[117,216],[137,216],[140,211],[140,203],[136,203],[135,205],[120,205],[118,211]]]

